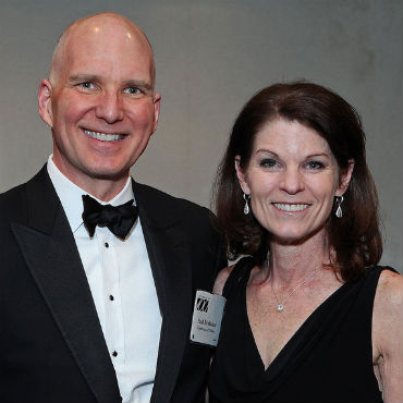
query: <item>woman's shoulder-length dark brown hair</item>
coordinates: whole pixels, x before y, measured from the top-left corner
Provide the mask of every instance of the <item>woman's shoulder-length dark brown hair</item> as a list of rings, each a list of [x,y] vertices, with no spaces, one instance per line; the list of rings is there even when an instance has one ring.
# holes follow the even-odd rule
[[[354,159],[350,185],[344,193],[343,217],[330,215],[326,229],[334,252],[332,268],[344,281],[356,280],[382,255],[378,197],[365,159],[365,133],[356,110],[334,91],[320,85],[297,82],[261,89],[245,105],[231,132],[215,183],[215,207],[223,230],[228,255],[252,255],[261,264],[269,249],[269,233],[252,213],[243,213],[244,199],[234,168],[248,166],[256,133],[276,119],[297,121],[323,137],[340,172]]]

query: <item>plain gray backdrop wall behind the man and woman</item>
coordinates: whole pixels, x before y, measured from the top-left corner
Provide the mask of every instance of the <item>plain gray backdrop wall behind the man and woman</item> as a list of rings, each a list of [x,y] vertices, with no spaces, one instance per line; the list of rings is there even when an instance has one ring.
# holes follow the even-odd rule
[[[148,35],[162,94],[159,129],[133,175],[208,206],[231,125],[278,81],[329,86],[362,114],[380,196],[383,264],[402,269],[402,1],[0,0],[0,191],[51,152],[37,87],[73,20],[115,11]],[[365,208],[365,206],[363,206]]]

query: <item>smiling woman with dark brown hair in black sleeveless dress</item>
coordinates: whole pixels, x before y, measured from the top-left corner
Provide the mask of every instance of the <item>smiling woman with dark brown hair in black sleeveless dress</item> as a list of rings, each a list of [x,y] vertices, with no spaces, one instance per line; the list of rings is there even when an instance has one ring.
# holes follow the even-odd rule
[[[210,402],[402,402],[402,277],[365,134],[339,95],[277,84],[240,113],[216,184],[230,258]]]

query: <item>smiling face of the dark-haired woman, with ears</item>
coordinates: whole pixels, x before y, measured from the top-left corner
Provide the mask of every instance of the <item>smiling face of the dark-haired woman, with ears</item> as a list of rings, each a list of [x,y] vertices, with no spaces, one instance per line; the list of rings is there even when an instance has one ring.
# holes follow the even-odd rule
[[[271,241],[291,244],[325,234],[334,196],[345,192],[353,166],[340,178],[326,139],[313,129],[282,119],[268,122],[256,134],[245,170],[240,157],[235,161],[256,219]]]

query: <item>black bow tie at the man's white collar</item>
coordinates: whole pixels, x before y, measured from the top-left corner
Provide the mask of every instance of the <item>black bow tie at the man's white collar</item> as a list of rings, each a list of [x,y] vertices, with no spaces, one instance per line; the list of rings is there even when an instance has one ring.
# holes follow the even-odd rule
[[[95,228],[108,227],[110,232],[124,240],[137,219],[137,206],[130,200],[120,206],[101,205],[88,195],[83,196],[83,221],[89,236],[93,237]]]

